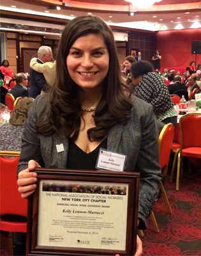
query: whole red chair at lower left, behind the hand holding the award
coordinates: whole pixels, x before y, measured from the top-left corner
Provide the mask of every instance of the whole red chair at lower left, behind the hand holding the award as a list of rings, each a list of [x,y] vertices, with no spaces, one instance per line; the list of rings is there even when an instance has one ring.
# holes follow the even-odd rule
[[[4,156],[15,158],[8,159]],[[20,196],[16,178],[19,156],[20,152],[0,151],[0,230],[26,233],[27,200]],[[10,245],[13,254],[12,239]]]

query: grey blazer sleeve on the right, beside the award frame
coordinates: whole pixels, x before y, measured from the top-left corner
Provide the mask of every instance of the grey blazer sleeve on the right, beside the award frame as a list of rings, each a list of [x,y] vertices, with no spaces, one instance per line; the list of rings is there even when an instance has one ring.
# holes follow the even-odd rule
[[[147,111],[146,111],[147,112]],[[151,214],[154,200],[158,198],[161,181],[158,134],[153,108],[141,121],[142,141],[138,154],[136,170],[140,170],[140,194],[138,204],[139,229],[146,228],[146,219]]]

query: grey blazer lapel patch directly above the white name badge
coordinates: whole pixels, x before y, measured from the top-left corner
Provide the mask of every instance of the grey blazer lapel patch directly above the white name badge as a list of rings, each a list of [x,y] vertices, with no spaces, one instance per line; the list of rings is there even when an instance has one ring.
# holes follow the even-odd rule
[[[123,125],[116,124],[108,132],[107,139],[107,149],[112,152],[117,152],[119,148],[119,143],[121,139],[121,134],[123,132]]]

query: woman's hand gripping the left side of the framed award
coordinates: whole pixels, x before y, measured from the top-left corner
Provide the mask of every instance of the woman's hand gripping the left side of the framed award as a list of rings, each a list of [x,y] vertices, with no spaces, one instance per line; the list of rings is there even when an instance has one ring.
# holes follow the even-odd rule
[[[40,168],[41,166],[36,163],[36,161],[31,160],[28,163],[28,168],[18,174],[17,184],[19,185],[19,192],[21,193],[22,198],[27,198],[32,193],[34,193],[36,189],[36,177],[37,173],[29,172],[34,170],[35,168]]]

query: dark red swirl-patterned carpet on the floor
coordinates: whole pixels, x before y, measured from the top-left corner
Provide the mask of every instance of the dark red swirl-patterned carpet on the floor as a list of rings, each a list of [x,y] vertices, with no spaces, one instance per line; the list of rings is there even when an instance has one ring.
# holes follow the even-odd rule
[[[171,166],[171,164],[170,164]],[[163,197],[154,204],[160,233],[147,220],[142,238],[144,256],[201,256],[201,171],[184,172],[184,180],[175,191],[174,182],[165,183],[172,214],[168,214]],[[0,256],[10,256],[8,233],[0,231]]]

